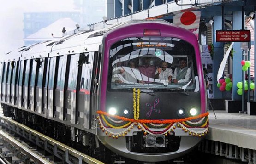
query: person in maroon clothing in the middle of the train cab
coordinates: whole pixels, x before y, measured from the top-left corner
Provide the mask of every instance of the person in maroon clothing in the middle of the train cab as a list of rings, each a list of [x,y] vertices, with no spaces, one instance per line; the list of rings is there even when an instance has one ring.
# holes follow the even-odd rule
[[[141,74],[149,78],[155,77],[155,66],[150,64],[151,58],[150,57],[143,57],[142,58],[143,65],[139,66],[139,71]]]

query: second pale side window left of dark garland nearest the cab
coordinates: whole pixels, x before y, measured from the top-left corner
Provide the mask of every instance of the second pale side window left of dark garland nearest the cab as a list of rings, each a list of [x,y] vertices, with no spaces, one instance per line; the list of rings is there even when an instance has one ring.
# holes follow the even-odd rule
[[[57,89],[64,89],[65,84],[65,69],[67,63],[67,56],[62,56],[59,58],[59,68],[58,68],[58,78],[57,78]]]

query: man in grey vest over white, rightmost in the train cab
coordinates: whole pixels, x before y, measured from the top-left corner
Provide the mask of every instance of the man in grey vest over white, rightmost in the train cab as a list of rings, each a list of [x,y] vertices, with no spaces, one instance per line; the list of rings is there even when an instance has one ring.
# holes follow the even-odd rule
[[[188,68],[187,60],[181,58],[179,66],[175,68],[173,73],[173,83],[187,83],[191,78],[191,68]]]

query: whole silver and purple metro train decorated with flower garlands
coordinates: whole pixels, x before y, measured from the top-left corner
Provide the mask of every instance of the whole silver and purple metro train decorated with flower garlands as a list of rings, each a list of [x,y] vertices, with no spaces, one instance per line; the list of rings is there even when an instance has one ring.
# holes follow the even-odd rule
[[[208,133],[200,46],[190,31],[132,20],[53,39],[1,55],[4,115],[90,152],[107,147],[147,162],[185,155]],[[182,60],[187,81],[155,78],[162,62],[174,74]]]

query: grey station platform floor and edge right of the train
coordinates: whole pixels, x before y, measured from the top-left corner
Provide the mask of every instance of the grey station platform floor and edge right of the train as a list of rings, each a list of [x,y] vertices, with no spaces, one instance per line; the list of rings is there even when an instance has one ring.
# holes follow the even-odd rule
[[[217,119],[215,119],[214,112]],[[209,133],[206,139],[256,150],[256,116],[209,111]]]

